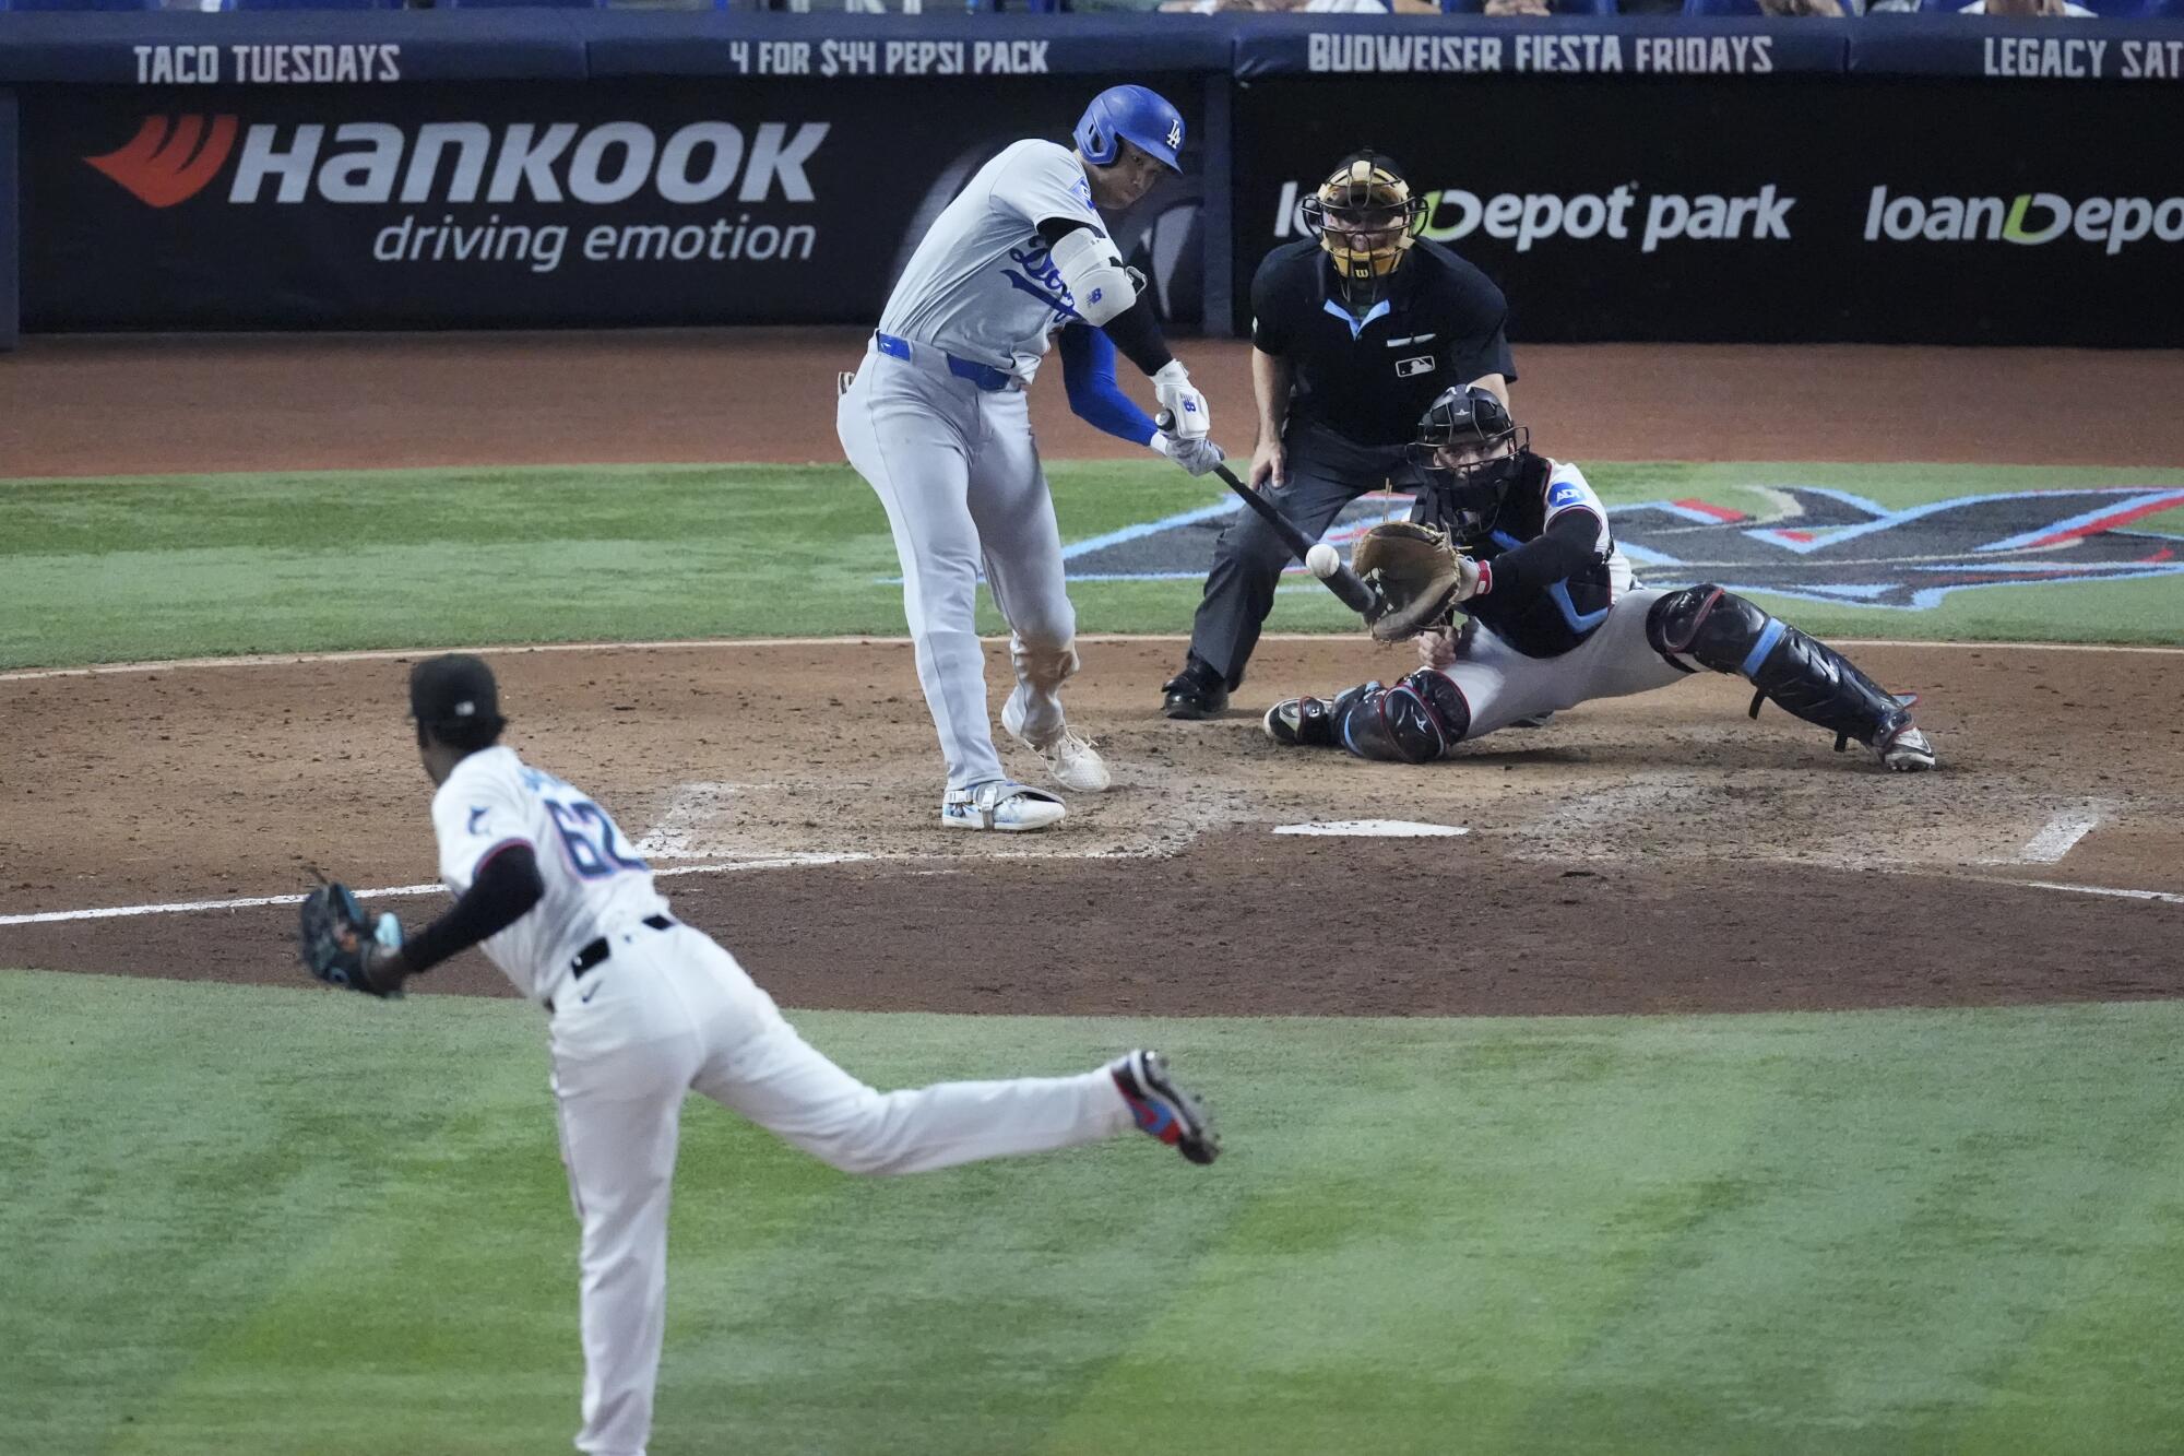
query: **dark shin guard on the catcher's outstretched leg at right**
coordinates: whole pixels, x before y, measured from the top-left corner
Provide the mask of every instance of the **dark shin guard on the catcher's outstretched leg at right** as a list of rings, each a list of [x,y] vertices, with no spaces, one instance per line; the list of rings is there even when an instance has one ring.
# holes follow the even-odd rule
[[[1883,748],[1911,724],[1911,713],[1835,647],[1714,584],[1655,601],[1645,634],[1653,651],[1684,671],[1743,676],[1758,689],[1754,717],[1760,700],[1769,700],[1832,732],[1837,750],[1848,739]]]

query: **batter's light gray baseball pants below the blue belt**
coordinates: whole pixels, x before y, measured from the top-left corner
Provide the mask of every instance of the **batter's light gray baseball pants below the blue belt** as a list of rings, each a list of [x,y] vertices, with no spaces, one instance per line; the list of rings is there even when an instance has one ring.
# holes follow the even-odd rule
[[[1077,610],[1061,575],[1061,529],[1040,470],[1022,389],[978,389],[946,354],[867,352],[834,428],[887,507],[902,560],[902,614],[917,680],[948,759],[948,787],[1007,778],[987,717],[978,647],[978,564],[1009,619],[1016,691],[1033,741],[1061,728],[1061,682],[1077,671]],[[930,363],[928,363],[930,359]]]

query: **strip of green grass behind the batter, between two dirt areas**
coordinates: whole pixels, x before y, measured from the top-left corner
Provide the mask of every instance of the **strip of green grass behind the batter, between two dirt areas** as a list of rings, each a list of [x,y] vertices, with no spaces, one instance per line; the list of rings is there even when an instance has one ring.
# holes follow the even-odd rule
[[[1223,498],[1168,466],[1055,463],[1064,540]],[[1607,501],[1837,485],[1885,505],[1979,490],[2177,485],[2184,470],[1588,466]],[[2184,531],[2184,512],[2138,529]],[[887,518],[845,466],[393,470],[0,483],[0,669],[334,647],[900,636]],[[1188,630],[1197,582],[1085,582],[1085,632]],[[2171,641],[2184,584],[1957,592],[1935,612],[1771,603],[1821,636]],[[1350,630],[1286,590],[1273,630]],[[987,608],[985,630],[1000,617]]]

